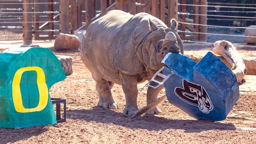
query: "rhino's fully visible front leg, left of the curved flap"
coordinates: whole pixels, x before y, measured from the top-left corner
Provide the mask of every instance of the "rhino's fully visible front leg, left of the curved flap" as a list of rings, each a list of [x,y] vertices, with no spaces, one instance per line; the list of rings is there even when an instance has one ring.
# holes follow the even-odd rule
[[[137,105],[137,75],[120,73],[120,80],[126,100],[123,114],[134,115],[139,110]]]

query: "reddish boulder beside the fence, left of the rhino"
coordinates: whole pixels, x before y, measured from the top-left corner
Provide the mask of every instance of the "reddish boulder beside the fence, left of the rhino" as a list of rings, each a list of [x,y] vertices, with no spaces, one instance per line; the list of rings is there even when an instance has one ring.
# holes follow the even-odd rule
[[[54,48],[56,50],[77,50],[79,45],[80,41],[77,36],[60,33],[55,39]]]

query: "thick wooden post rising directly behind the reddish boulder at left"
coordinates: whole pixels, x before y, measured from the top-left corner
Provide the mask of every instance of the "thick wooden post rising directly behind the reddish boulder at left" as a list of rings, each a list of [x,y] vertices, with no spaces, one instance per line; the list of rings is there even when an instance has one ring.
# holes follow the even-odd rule
[[[60,0],[60,32],[69,34],[69,4],[68,0]]]

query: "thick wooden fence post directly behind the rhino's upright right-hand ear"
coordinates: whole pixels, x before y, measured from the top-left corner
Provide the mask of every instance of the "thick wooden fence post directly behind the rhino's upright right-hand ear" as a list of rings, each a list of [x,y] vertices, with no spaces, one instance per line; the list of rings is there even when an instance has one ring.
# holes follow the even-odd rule
[[[178,21],[178,0],[168,0],[168,27],[171,26],[170,20],[175,18]]]

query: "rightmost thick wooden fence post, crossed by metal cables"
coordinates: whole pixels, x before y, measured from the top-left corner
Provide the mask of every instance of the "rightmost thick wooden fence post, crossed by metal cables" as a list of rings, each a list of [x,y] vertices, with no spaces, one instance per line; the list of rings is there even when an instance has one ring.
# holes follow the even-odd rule
[[[200,5],[207,5],[207,0],[200,0]],[[204,14],[205,16],[200,16],[199,23],[207,25],[207,7],[200,6],[199,14]],[[207,26],[199,26],[199,32],[207,33]],[[207,42],[207,34],[199,34],[198,41]]]

